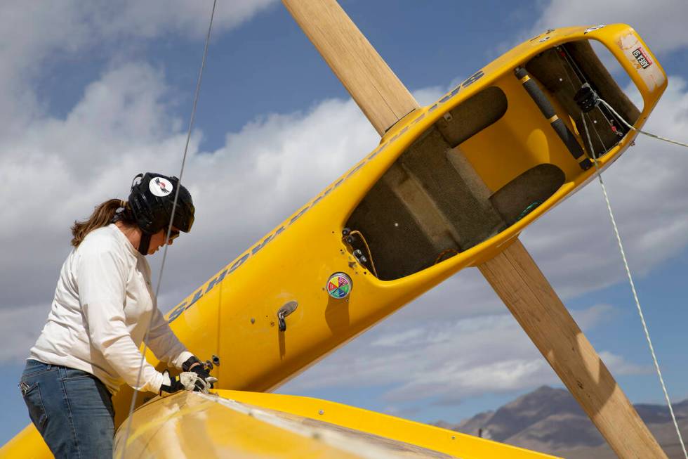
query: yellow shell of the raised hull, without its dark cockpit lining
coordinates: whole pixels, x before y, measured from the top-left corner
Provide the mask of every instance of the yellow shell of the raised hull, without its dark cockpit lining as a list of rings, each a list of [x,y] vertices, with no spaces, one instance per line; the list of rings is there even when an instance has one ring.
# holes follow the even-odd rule
[[[513,69],[564,41],[599,39],[620,59],[642,93],[644,108],[637,114],[635,127],[642,126],[654,108],[666,77],[655,60],[664,79],[649,87],[626,59],[617,43],[629,34],[635,37],[630,27],[608,25],[589,34],[584,31],[583,27],[557,30],[543,43],[522,44],[487,65],[484,75],[472,84],[460,85],[459,91],[412,112],[390,129],[371,154],[173,308],[168,313],[171,326],[190,349],[201,356],[220,357],[216,370],[220,387],[262,392],[283,383],[456,271],[493,257],[526,226],[589,181],[595,168],[583,170],[571,157],[529,100]],[[343,228],[359,202],[421,134],[489,86],[498,86],[508,95],[509,108],[489,127],[492,135],[474,136],[460,148],[491,193],[539,164],[555,164],[564,172],[564,182],[522,219],[456,256],[395,280],[376,278],[350,253]],[[564,118],[562,108],[557,112]],[[577,130],[569,119],[565,121],[571,131]],[[577,140],[582,144],[578,136]],[[632,134],[623,136],[600,158],[600,167],[614,162],[632,141]],[[517,153],[498,158],[480,154],[514,150]],[[352,291],[344,299],[326,292],[329,277],[337,272],[352,279]],[[298,307],[286,317],[286,331],[281,332],[277,313],[289,302],[297,302]]]

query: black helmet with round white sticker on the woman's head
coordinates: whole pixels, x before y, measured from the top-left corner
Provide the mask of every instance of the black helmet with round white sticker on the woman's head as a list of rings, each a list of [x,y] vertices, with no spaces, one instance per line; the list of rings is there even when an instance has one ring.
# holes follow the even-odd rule
[[[128,201],[136,224],[143,232],[138,247],[141,254],[147,254],[151,235],[162,229],[167,230],[177,187],[179,195],[172,225],[179,231],[188,233],[194,224],[195,208],[189,190],[179,184],[179,179],[154,172],[134,177]]]

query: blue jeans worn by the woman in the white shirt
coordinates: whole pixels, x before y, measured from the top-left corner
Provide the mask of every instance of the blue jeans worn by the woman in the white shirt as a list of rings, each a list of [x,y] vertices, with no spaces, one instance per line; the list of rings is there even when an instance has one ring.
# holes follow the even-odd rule
[[[19,387],[55,458],[112,458],[112,396],[97,377],[29,359]]]

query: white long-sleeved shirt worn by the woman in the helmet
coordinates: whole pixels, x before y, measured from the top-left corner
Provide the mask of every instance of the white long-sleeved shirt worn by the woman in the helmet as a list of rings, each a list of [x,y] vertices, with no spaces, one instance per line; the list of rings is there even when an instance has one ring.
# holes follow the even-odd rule
[[[181,368],[193,354],[157,308],[148,262],[116,225],[98,228],[62,265],[48,320],[29,358],[91,373],[113,394],[124,382],[159,392],[164,376],[145,360],[137,384],[149,321],[148,347],[159,360]]]

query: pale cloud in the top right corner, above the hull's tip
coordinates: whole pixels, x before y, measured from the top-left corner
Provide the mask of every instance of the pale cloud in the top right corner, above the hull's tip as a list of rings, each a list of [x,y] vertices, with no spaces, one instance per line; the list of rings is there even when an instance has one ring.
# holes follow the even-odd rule
[[[688,3],[684,0],[549,0],[530,34],[571,25],[625,22],[638,31],[655,52],[688,46]]]

